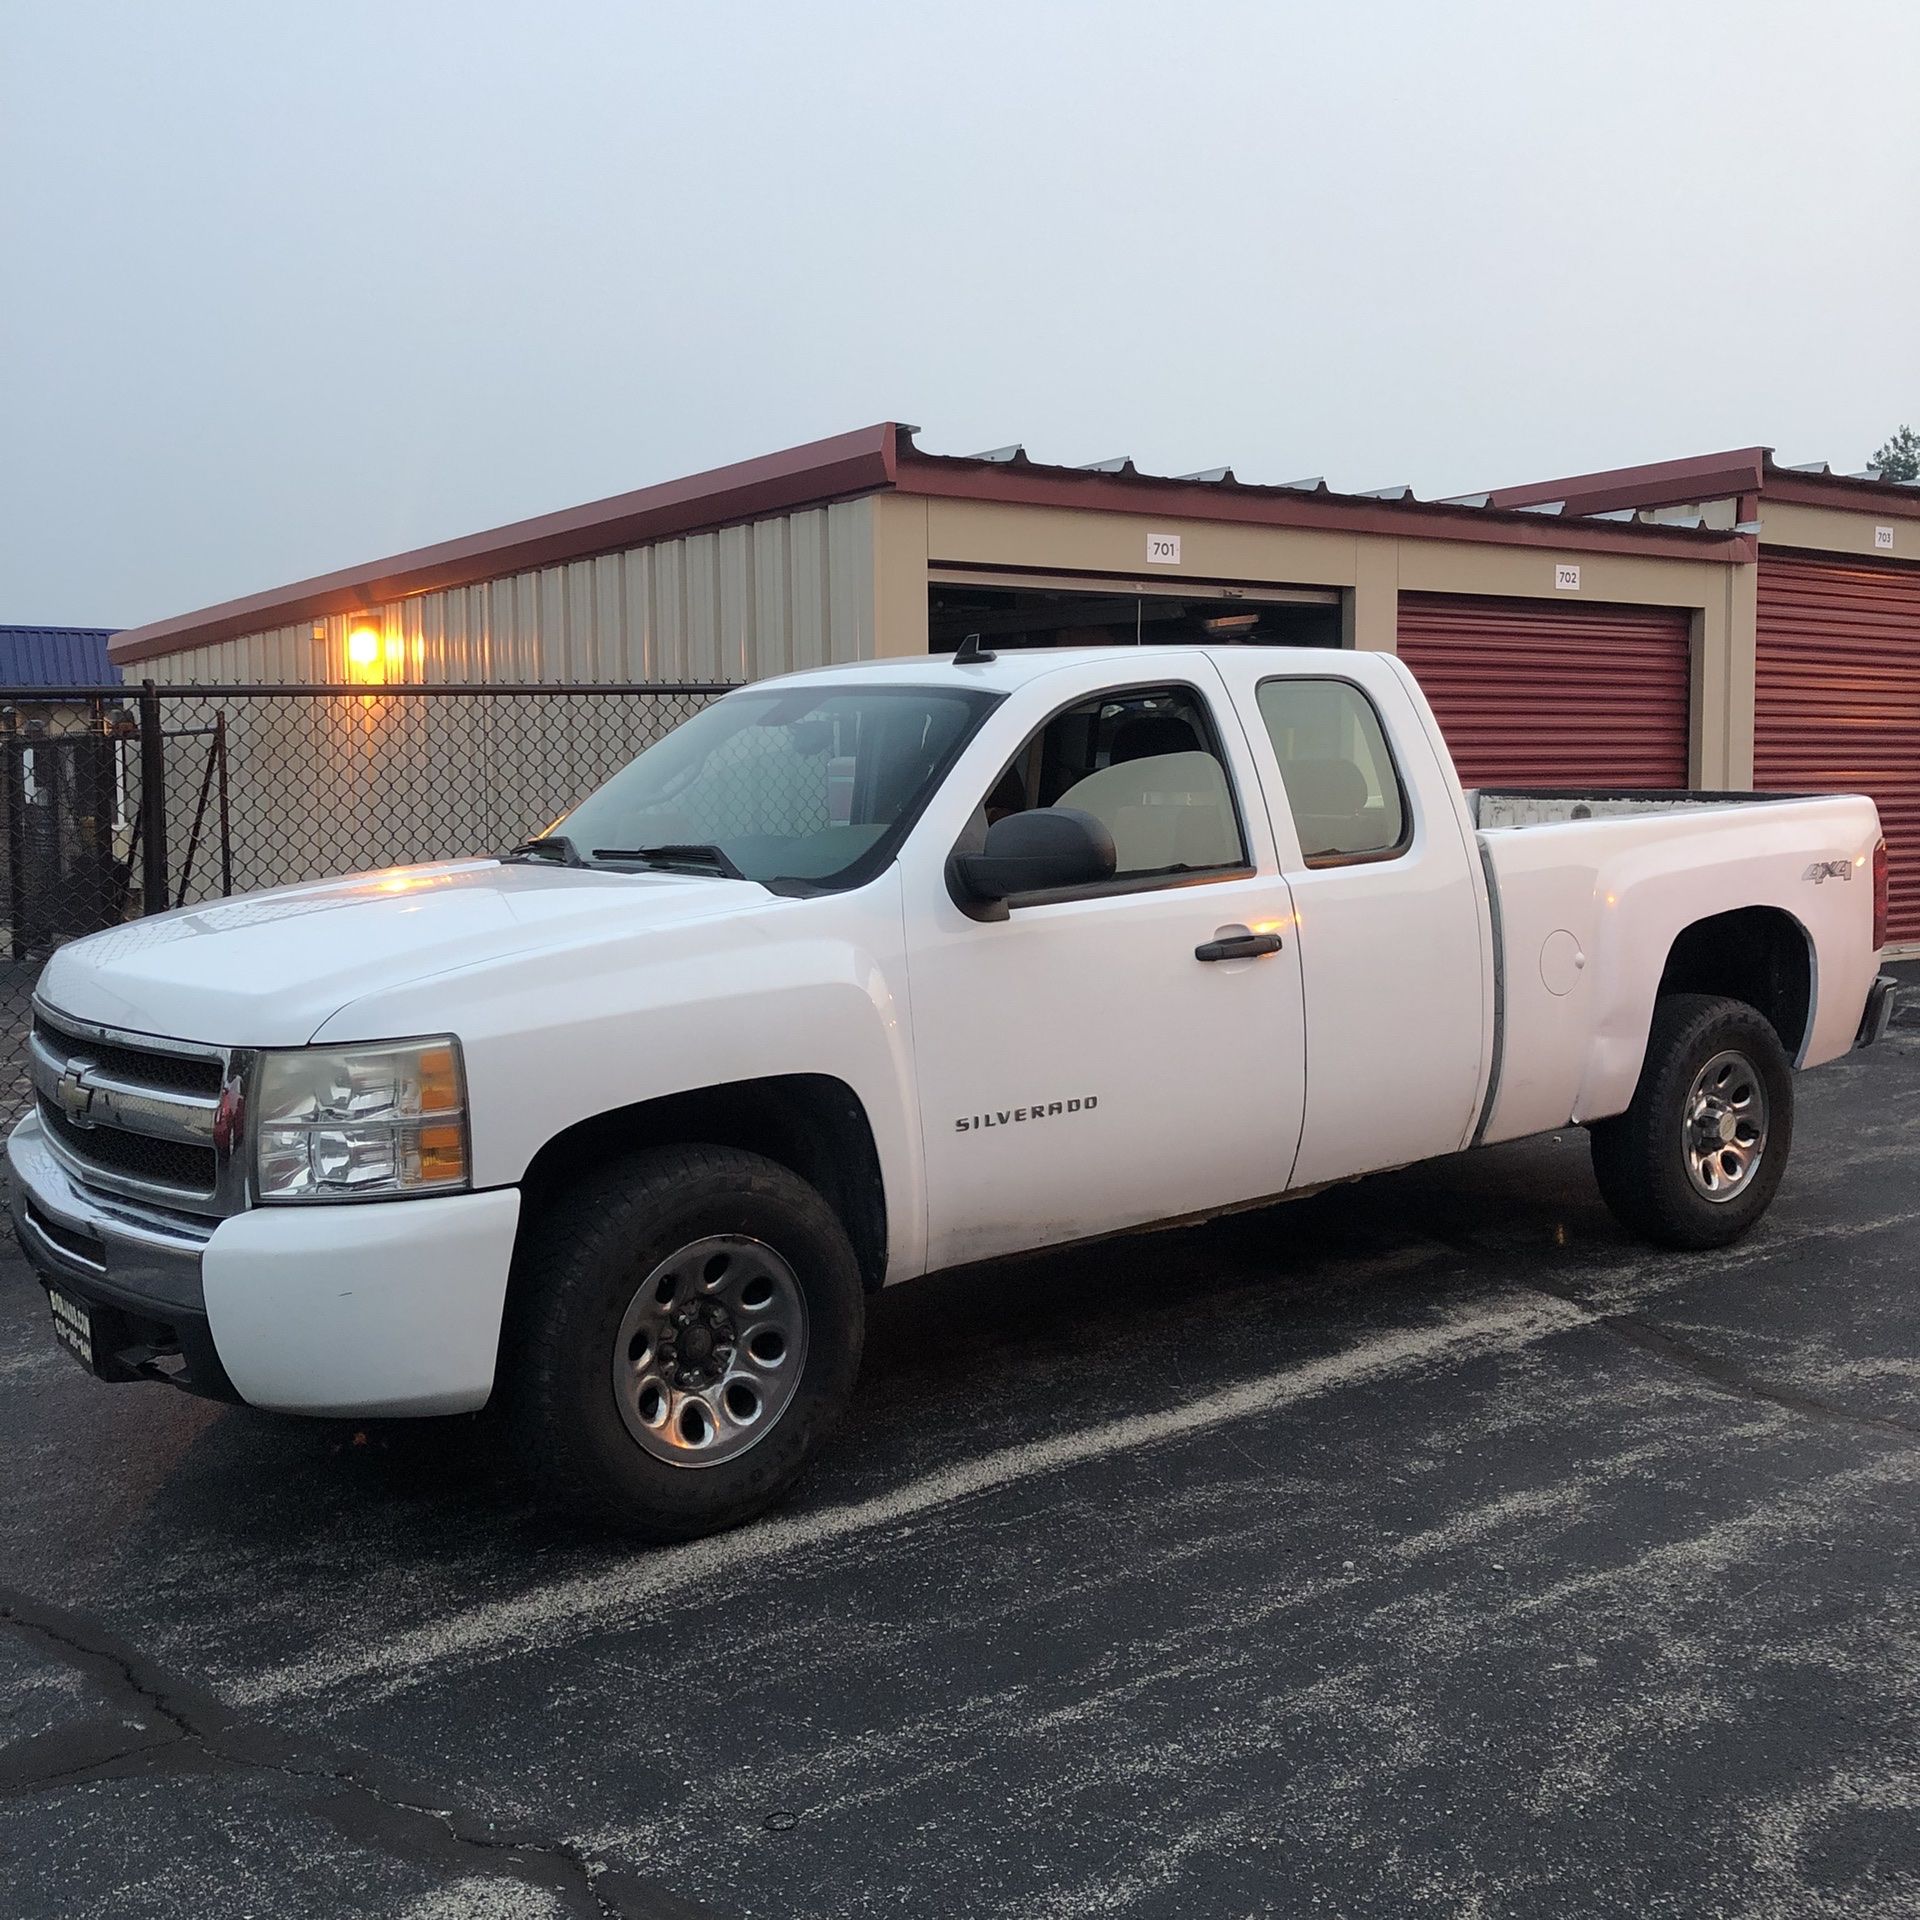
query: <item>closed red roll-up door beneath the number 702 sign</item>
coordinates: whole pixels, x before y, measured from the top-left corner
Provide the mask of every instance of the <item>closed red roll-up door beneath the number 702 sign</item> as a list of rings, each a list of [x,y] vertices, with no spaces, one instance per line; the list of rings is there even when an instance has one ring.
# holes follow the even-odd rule
[[[1469,787],[1684,787],[1678,607],[1400,595],[1413,668]]]

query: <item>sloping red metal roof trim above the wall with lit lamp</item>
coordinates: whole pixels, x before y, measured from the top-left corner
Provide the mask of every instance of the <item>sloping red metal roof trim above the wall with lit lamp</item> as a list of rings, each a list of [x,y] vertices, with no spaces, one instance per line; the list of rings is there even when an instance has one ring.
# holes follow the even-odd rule
[[[899,430],[889,420],[854,434],[789,447],[785,453],[689,474],[685,480],[616,493],[586,507],[515,520],[511,526],[468,534],[465,540],[445,540],[392,559],[296,580],[292,586],[204,607],[200,612],[154,620],[119,634],[111,641],[113,660],[129,666],[134,660],[152,660],[186,647],[207,647],[242,634],[265,634],[276,626],[294,626],[330,612],[357,612],[409,593],[472,586],[476,580],[557,566],[563,561],[637,547],[649,540],[672,540],[680,534],[791,513],[797,507],[851,499],[891,484],[897,438]]]

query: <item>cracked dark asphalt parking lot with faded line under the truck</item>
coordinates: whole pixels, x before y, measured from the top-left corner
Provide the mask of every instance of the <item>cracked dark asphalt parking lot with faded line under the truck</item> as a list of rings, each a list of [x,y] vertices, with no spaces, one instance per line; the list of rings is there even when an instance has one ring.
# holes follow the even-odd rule
[[[0,1269],[0,1907],[1920,1912],[1920,1027],[1726,1254],[1580,1135],[874,1306],[770,1521],[86,1380]]]

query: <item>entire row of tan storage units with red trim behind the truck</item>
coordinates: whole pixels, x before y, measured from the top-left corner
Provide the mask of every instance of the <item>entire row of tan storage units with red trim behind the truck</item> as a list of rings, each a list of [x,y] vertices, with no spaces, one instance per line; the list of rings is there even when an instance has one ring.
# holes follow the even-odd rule
[[[1920,488],[1764,449],[1415,499],[885,422],[121,634],[175,685],[737,682],[952,649],[1400,651],[1469,783],[1872,793],[1920,941]]]

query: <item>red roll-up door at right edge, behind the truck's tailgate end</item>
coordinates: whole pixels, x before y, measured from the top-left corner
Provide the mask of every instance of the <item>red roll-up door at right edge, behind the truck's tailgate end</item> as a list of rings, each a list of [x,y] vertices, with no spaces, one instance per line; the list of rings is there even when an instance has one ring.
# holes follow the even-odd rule
[[[1920,566],[1761,555],[1753,783],[1868,793],[1887,939],[1920,941]]]

